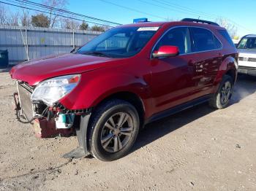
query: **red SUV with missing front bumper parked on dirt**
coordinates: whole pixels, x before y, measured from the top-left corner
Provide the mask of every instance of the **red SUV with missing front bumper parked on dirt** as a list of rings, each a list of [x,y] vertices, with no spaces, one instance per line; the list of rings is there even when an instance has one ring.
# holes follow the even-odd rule
[[[225,28],[184,19],[118,26],[69,54],[14,66],[10,75],[18,118],[75,129],[80,147],[72,155],[116,160],[148,122],[205,101],[225,108],[237,62]]]

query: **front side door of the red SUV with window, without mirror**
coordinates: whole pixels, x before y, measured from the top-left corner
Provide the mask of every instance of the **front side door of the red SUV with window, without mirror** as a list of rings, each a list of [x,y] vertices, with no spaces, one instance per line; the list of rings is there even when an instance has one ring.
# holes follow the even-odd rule
[[[198,84],[195,69],[190,66],[192,48],[188,28],[170,28],[159,39],[153,51],[163,45],[177,46],[179,55],[151,59],[150,86],[155,112],[190,101]]]

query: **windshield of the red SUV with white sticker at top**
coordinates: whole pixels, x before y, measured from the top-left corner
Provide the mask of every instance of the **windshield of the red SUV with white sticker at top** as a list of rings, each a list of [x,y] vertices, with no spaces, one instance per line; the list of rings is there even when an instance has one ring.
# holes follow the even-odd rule
[[[101,34],[76,51],[78,54],[127,58],[136,55],[158,27],[113,28]]]

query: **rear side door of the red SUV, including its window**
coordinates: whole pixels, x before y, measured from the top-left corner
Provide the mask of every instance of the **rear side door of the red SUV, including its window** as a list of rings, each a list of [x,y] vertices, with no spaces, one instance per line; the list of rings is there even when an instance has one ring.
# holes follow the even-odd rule
[[[206,28],[189,27],[192,39],[192,63],[198,79],[200,95],[211,93],[214,79],[222,62],[222,44]]]

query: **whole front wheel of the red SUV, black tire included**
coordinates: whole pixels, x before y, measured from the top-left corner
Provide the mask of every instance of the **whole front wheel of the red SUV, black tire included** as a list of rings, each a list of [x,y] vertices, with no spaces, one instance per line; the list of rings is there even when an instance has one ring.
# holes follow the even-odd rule
[[[123,116],[123,114],[125,115],[125,117],[127,117],[127,119],[129,119],[129,121],[127,120],[126,122],[124,122],[123,125],[118,125],[119,121],[124,121],[124,119],[121,120],[121,116]],[[118,118],[118,116],[120,117]],[[129,102],[127,101],[113,99],[99,106],[93,112],[91,117],[92,118],[89,123],[89,147],[90,147],[91,155],[93,155],[99,160],[104,160],[104,161],[117,160],[121,157],[124,157],[124,155],[127,155],[129,150],[132,148],[133,144],[135,143],[135,140],[137,139],[139,128],[140,128],[139,115],[135,107],[132,106],[132,104],[129,104]],[[110,120],[110,118],[112,120]],[[111,125],[111,128],[115,126],[115,130],[110,130],[108,129],[108,125],[110,123],[113,124],[112,123],[113,120],[115,120],[116,123],[114,123],[115,125]],[[106,125],[107,123],[108,125]],[[122,135],[121,130],[128,129],[128,128],[123,128],[123,126],[127,125],[128,123],[130,124],[130,126],[133,125],[132,131],[131,131],[132,133],[130,134],[130,136]],[[129,124],[127,126],[129,126]],[[116,127],[116,126],[120,126],[120,127]],[[115,134],[117,133],[116,132],[117,128],[120,133]],[[103,134],[106,134],[106,136],[104,137],[113,136],[113,138],[110,140],[109,143],[108,141],[106,141],[108,143],[108,146],[106,146],[106,143],[103,143],[105,140],[103,137]],[[116,139],[118,139],[118,143],[116,142]],[[121,148],[118,151],[115,151],[115,149],[117,148],[116,143],[118,145],[117,146],[118,149]],[[110,147],[112,145],[113,145],[113,148]]]

